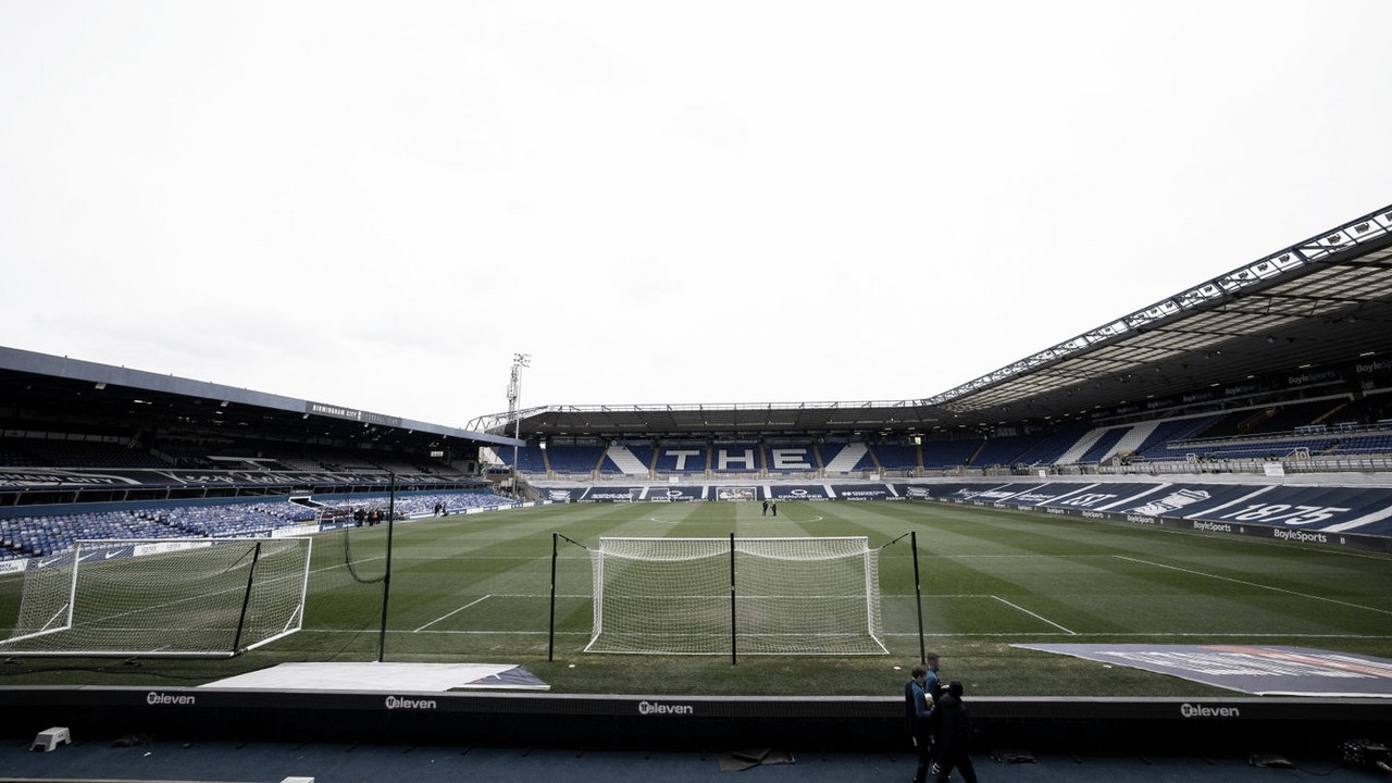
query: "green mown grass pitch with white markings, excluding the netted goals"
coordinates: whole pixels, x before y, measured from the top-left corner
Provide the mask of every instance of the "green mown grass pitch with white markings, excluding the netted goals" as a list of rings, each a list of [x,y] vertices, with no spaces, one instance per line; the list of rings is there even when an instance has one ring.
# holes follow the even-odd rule
[[[866,536],[883,548],[889,655],[585,652],[587,548],[601,536],[731,534]],[[287,638],[228,660],[15,659],[0,681],[200,684],[285,662],[381,659],[519,665],[553,692],[892,695],[919,659],[920,606],[923,644],[942,655],[944,674],[986,697],[1231,694],[1015,646],[1023,644],[1292,645],[1392,658],[1386,555],[1023,511],[785,502],[771,517],[756,503],[560,504],[348,528],[317,535],[313,548],[303,630]],[[0,580],[0,623],[13,621],[18,595],[18,578]]]

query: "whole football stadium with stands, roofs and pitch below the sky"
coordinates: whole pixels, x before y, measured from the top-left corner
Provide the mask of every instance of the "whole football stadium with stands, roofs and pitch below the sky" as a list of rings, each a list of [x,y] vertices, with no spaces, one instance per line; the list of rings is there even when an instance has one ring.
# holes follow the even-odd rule
[[[916,400],[451,428],[0,348],[0,729],[903,752],[935,651],[980,754],[1334,758],[1392,729],[1389,357],[1392,206]]]

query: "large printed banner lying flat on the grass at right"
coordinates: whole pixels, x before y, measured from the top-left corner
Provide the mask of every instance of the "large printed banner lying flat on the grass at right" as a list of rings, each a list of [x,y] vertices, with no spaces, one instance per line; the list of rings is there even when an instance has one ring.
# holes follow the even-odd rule
[[[1254,695],[1392,698],[1392,659],[1302,646],[1019,644]],[[1196,712],[1194,718],[1222,718]]]

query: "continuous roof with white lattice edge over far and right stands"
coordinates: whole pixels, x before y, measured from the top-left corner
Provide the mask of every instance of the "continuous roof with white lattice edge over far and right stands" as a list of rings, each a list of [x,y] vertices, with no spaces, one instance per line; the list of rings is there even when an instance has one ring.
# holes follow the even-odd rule
[[[1392,206],[923,400],[546,405],[469,426],[523,439],[984,429],[1374,357],[1392,357]]]

